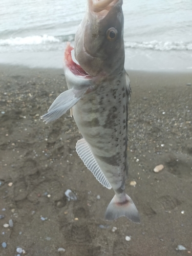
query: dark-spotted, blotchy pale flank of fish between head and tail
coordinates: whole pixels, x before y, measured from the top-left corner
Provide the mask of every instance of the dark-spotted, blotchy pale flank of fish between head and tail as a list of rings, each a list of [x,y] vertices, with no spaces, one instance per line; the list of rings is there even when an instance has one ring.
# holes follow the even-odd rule
[[[118,80],[103,82],[73,106],[78,129],[114,189],[121,187],[127,170],[128,95],[124,70],[119,73]]]

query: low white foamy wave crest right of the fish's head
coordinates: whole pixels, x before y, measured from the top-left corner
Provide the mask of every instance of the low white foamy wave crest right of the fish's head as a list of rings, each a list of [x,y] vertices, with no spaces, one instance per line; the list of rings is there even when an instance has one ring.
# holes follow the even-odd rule
[[[125,48],[136,48],[136,49],[149,49],[158,51],[170,51],[170,50],[192,50],[192,41],[183,42],[162,42],[162,41],[150,41],[150,42],[125,42]]]

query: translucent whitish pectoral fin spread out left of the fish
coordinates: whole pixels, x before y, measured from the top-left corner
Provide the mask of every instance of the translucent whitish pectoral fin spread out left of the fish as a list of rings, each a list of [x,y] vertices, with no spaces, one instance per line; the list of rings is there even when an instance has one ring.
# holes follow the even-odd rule
[[[58,119],[60,116],[70,110],[87,91],[87,88],[82,90],[70,89],[61,93],[50,106],[48,113],[41,116],[46,123]]]

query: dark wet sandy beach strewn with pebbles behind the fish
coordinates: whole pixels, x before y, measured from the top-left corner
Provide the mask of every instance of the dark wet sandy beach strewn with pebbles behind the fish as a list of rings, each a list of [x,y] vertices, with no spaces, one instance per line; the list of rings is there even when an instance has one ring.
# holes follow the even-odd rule
[[[0,66],[1,256],[16,255],[18,246],[29,256],[61,255],[60,247],[66,256],[192,255],[192,73],[128,73],[126,193],[140,224],[104,220],[114,192],[76,154],[81,135],[70,113],[40,120],[67,90],[62,69]],[[4,227],[10,219],[13,227]]]

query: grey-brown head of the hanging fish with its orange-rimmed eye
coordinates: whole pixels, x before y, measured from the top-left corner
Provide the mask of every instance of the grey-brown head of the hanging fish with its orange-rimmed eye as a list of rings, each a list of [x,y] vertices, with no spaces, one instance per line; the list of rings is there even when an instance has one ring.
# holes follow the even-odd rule
[[[88,0],[74,52],[91,77],[109,76],[124,67],[122,0]]]

